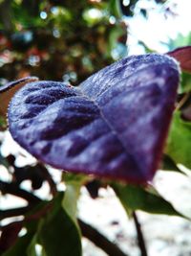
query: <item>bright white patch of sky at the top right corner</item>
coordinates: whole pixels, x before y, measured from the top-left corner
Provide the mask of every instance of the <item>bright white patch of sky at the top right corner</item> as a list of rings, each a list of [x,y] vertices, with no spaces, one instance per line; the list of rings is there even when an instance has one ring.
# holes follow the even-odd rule
[[[148,19],[145,19],[138,11],[146,8]],[[168,12],[164,15],[164,9],[173,9],[175,15]],[[191,32],[190,10],[188,1],[171,0],[160,6],[148,0],[140,0],[133,18],[127,18],[129,27],[128,46],[129,55],[138,54],[143,48],[137,48],[138,40],[143,41],[150,49],[159,53],[168,51],[165,45],[170,38],[175,39],[177,35],[188,35]],[[135,41],[135,43],[132,43]],[[130,42],[130,45],[129,45]],[[138,52],[138,53],[137,53]],[[143,54],[144,52],[141,52]]]

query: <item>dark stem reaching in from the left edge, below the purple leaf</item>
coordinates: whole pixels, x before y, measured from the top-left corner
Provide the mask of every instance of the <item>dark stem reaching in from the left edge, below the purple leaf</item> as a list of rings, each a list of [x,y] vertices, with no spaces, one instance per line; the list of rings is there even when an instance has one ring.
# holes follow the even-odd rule
[[[18,185],[14,183],[8,183],[2,180],[0,180],[0,191],[2,192],[2,194],[11,194],[19,198],[24,198],[31,203],[38,203],[41,201],[40,198],[37,198],[32,193],[20,189]]]

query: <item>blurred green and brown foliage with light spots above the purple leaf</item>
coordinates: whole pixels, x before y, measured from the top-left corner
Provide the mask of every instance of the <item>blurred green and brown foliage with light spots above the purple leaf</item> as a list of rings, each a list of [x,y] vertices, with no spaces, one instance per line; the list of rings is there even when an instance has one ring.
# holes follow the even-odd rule
[[[0,78],[78,84],[127,55],[123,16],[133,16],[137,2],[0,1]]]

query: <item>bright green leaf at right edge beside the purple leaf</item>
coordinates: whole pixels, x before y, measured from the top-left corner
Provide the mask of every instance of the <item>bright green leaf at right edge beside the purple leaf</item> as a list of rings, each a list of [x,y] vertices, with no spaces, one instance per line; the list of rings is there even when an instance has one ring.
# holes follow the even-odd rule
[[[174,113],[166,153],[176,162],[191,169],[191,122],[183,121],[180,112]]]

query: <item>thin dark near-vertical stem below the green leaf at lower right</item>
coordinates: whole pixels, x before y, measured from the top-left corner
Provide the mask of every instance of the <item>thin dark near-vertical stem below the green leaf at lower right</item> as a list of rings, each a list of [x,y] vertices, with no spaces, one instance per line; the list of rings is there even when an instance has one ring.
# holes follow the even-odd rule
[[[139,246],[139,249],[141,252],[141,256],[148,256],[147,250],[146,250],[146,245],[144,242],[144,237],[143,237],[143,234],[141,231],[141,226],[138,221],[138,216],[137,216],[136,212],[133,212],[133,219],[135,221],[136,229],[137,229],[137,233],[138,233],[138,246]]]

